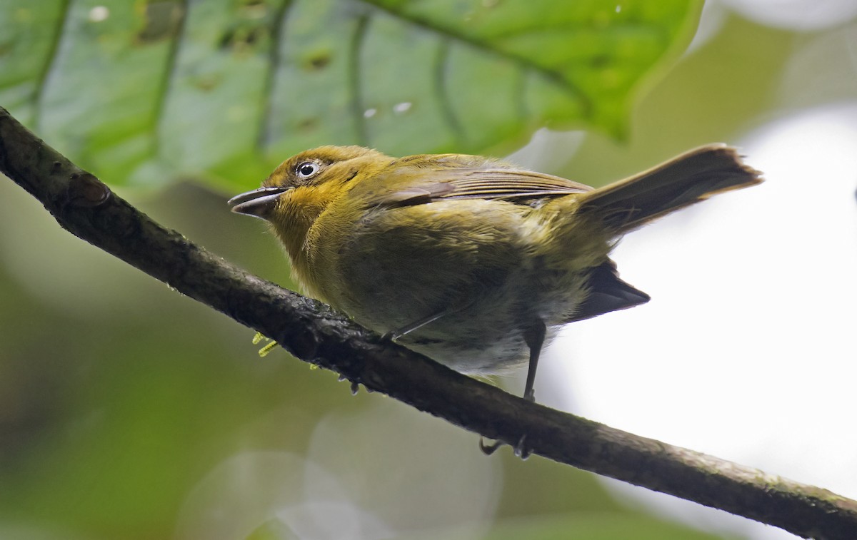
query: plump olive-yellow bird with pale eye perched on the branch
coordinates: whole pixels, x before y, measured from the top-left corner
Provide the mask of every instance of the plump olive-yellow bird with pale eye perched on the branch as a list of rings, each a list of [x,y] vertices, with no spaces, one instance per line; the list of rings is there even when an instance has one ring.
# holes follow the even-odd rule
[[[465,374],[527,365],[535,401],[560,328],[650,300],[610,258],[624,234],[761,181],[724,144],[598,188],[491,157],[327,145],[229,204],[270,223],[304,293]]]

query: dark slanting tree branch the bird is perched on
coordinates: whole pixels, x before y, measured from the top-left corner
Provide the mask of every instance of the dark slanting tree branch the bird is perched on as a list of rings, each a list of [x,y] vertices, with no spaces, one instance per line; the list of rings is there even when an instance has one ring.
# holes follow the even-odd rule
[[[297,358],[513,447],[801,537],[854,538],[857,501],[555,411],[464,377],[226,263],[135,210],[0,108],[0,172],[75,236],[260,331]]]

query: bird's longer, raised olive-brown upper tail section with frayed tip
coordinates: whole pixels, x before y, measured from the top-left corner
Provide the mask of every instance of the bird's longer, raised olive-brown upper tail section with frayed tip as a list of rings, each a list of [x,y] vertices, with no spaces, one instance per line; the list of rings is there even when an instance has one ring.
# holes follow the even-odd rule
[[[622,234],[716,193],[758,184],[759,175],[741,162],[734,148],[701,146],[654,169],[584,193],[580,211],[595,212]]]

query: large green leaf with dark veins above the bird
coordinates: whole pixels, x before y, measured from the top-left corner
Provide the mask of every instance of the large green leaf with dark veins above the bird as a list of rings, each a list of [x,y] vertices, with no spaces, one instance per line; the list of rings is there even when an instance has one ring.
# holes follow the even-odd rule
[[[7,0],[0,104],[111,183],[251,185],[323,144],[500,152],[621,136],[686,0]]]

